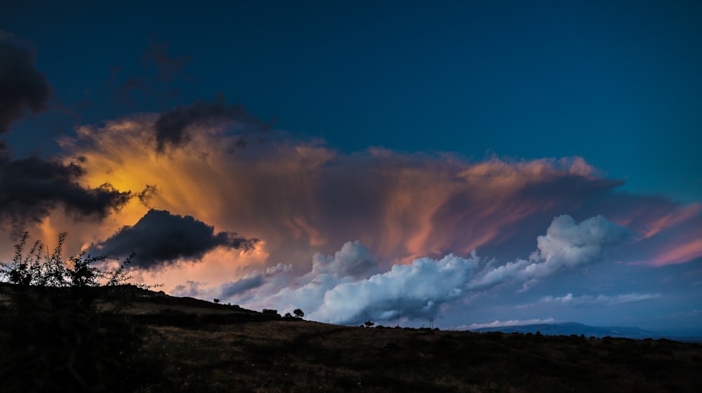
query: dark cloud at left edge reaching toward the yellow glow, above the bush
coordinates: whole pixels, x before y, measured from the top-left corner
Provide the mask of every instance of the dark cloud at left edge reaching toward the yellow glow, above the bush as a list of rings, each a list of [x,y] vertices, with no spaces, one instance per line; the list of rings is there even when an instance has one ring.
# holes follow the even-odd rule
[[[117,191],[110,184],[83,188],[78,180],[84,173],[76,163],[0,158],[0,218],[12,226],[38,223],[62,205],[77,216],[102,219],[131,198],[130,192]]]

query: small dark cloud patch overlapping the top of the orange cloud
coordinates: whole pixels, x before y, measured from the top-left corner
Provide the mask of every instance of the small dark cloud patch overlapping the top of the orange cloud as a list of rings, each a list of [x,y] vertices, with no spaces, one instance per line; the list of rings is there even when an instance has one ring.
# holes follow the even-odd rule
[[[161,152],[166,146],[180,147],[190,140],[191,127],[194,125],[214,125],[231,120],[246,120],[249,116],[241,105],[227,105],[222,99],[216,102],[199,101],[192,105],[161,114],[154,129],[156,131],[156,149]],[[239,139],[241,140],[241,139]],[[246,142],[240,147],[246,146]],[[237,142],[239,146],[241,142]]]

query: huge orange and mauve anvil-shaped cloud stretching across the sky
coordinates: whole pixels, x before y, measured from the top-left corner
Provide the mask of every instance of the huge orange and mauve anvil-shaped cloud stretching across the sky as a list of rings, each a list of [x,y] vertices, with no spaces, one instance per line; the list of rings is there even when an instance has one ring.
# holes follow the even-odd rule
[[[531,249],[560,214],[603,214],[640,234],[632,244],[676,239],[677,228],[698,226],[698,205],[617,193],[621,181],[601,177],[579,157],[475,163],[378,148],[347,155],[275,132],[265,143],[241,144],[242,125],[229,118],[189,124],[178,129],[178,144],[157,149],[158,118],[83,126],[62,139],[65,161],[79,160],[86,172],[81,186],[112,184],[133,198],[97,223],[74,222],[57,209],[39,224],[42,237],[69,228],[72,245],[89,247],[159,209],[262,240],[252,254],[218,249],[199,263],[181,261],[179,273],[144,273],[213,285],[278,263],[308,271],[314,253],[330,254],[350,240],[388,264],[473,249],[511,258]],[[698,244],[661,251],[655,263],[694,258]]]

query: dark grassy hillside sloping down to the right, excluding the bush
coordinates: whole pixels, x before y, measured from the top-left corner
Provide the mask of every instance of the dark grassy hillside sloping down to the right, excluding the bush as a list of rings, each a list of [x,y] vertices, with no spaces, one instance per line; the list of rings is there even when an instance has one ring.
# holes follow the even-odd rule
[[[702,392],[696,343],[336,326],[155,294],[138,294],[126,314],[143,340],[115,363],[126,373],[105,375],[132,378],[130,392]]]

